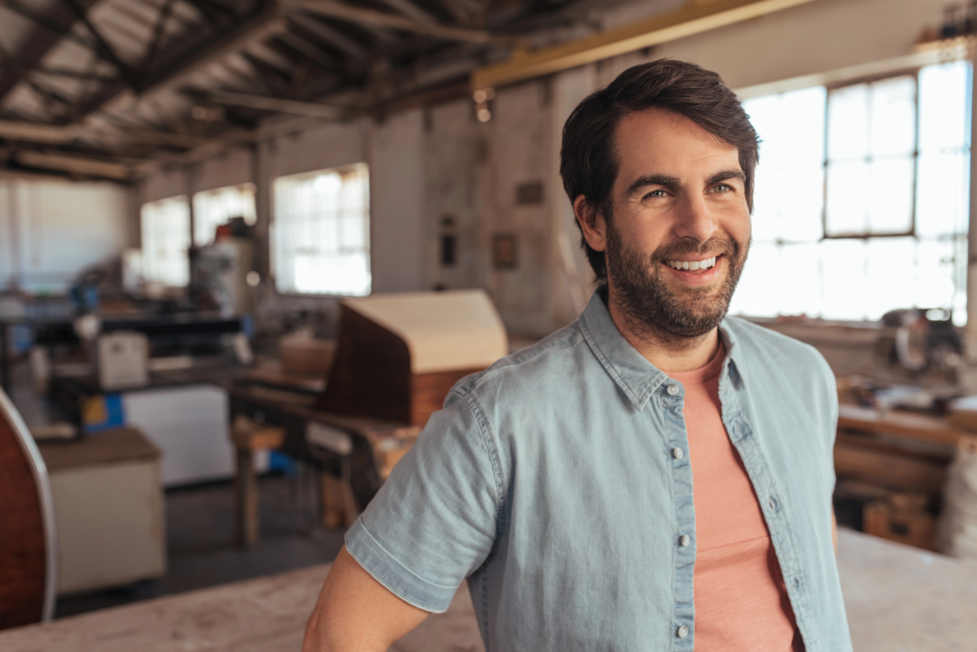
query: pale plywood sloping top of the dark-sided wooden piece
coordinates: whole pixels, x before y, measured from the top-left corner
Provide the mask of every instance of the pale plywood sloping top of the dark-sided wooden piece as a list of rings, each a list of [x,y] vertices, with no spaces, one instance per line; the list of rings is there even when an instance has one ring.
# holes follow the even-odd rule
[[[485,369],[508,353],[505,326],[484,290],[377,294],[343,306],[404,340],[414,374]]]

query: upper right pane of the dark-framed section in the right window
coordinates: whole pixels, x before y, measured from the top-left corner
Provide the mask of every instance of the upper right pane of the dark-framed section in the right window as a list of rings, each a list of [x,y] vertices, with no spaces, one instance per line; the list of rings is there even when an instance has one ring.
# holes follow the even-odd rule
[[[915,78],[892,77],[871,85],[870,153],[910,154],[915,150]]]

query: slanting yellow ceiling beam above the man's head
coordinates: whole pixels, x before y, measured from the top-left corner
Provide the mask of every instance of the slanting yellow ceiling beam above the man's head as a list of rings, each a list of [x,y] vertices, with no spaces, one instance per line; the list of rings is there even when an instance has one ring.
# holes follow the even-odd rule
[[[755,19],[811,1],[694,0],[676,11],[593,36],[531,52],[517,51],[508,61],[492,63],[472,72],[471,86],[473,90],[498,88],[567,70],[577,65],[649,48],[735,22]]]

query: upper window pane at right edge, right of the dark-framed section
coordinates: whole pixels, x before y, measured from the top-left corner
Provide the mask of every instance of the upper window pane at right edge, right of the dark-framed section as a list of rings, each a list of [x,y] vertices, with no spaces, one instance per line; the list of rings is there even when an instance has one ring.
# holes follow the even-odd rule
[[[969,61],[927,65],[919,71],[919,151],[968,146],[969,80]]]

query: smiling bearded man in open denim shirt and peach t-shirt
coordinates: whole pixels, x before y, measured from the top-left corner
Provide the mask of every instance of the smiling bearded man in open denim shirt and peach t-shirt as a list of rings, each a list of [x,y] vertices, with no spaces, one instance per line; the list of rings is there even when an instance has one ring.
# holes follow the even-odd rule
[[[691,63],[577,106],[561,173],[601,285],[451,390],[347,533],[307,652],[385,650],[466,578],[489,651],[851,649],[833,376],[724,320],[756,161],[740,102]]]

